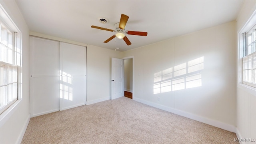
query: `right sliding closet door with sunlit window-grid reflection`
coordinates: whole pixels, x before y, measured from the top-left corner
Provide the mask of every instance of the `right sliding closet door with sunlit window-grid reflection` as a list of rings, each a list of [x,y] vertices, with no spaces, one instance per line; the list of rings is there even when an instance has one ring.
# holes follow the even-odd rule
[[[86,104],[86,47],[60,42],[60,110]]]

